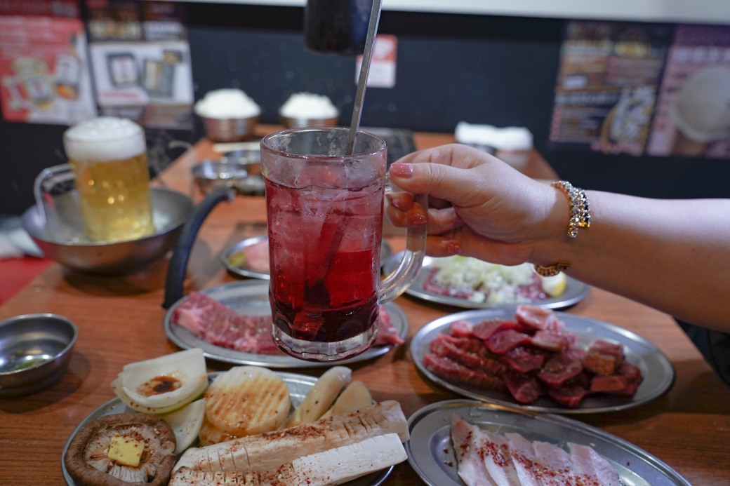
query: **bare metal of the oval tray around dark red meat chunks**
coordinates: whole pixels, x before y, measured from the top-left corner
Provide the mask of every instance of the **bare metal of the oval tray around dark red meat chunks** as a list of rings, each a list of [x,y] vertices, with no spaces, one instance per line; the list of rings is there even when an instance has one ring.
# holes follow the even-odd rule
[[[520,405],[512,399],[509,393],[483,390],[472,385],[448,382],[441,377],[437,377],[423,366],[423,355],[429,351],[431,339],[434,339],[437,334],[447,331],[454,321],[463,319],[469,320],[472,323],[479,323],[482,320],[492,319],[494,317],[511,319],[515,315],[515,309],[516,306],[511,306],[501,309],[480,309],[458,312],[424,325],[413,336],[410,342],[410,353],[416,368],[425,377],[430,379],[431,382],[437,383],[461,396],[511,408],[558,414],[618,412],[619,410],[630,409],[658,398],[666,390],[669,390],[669,387],[674,383],[675,369],[672,366],[672,362],[669,361],[669,358],[664,353],[646,339],[617,325],[604,323],[588,317],[566,314],[564,312],[556,312],[556,317],[565,323],[567,331],[574,333],[580,338],[580,346],[588,347],[594,339],[605,339],[623,346],[626,360],[632,365],[638,366],[642,372],[642,377],[644,377],[634,396],[587,396],[575,409],[560,406],[546,397],[538,398],[531,405]]]

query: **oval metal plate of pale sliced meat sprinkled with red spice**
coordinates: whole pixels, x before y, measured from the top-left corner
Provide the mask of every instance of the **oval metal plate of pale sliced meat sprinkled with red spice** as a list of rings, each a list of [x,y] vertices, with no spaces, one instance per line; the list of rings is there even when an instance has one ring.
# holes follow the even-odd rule
[[[408,429],[408,462],[432,486],[690,484],[634,444],[556,414],[441,401]]]

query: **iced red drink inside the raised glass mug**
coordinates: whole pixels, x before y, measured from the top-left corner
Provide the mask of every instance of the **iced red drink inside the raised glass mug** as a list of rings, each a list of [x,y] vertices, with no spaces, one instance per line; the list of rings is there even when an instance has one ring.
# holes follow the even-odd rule
[[[266,180],[266,196],[274,325],[304,341],[374,336],[383,184],[313,190]]]

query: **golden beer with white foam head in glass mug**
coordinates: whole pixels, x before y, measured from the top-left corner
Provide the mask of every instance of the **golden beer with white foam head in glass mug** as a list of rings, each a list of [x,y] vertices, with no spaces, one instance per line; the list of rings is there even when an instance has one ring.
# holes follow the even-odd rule
[[[96,117],[69,128],[64,148],[88,239],[120,242],[153,233],[142,127],[125,118]]]

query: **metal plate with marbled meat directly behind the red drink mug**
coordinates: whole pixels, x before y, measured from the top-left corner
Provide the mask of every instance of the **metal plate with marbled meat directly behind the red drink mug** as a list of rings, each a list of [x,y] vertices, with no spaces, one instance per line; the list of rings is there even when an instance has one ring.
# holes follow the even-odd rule
[[[193,291],[168,309],[163,326],[168,339],[178,347],[201,348],[207,358],[224,363],[275,369],[331,366],[292,358],[274,345],[266,280],[242,280]],[[339,363],[384,355],[404,344],[408,331],[408,319],[401,308],[392,302],[384,304],[375,344]]]

